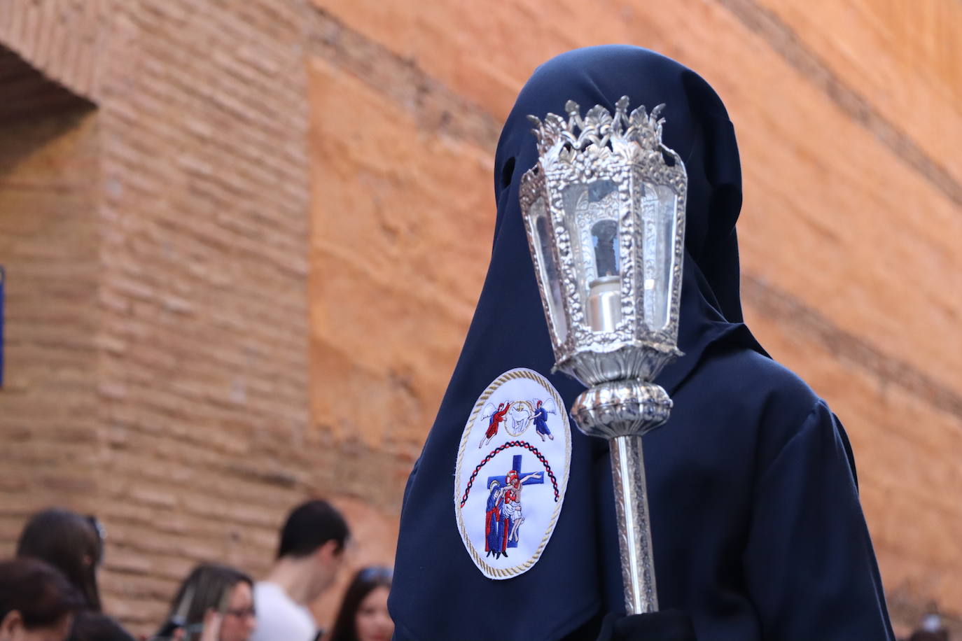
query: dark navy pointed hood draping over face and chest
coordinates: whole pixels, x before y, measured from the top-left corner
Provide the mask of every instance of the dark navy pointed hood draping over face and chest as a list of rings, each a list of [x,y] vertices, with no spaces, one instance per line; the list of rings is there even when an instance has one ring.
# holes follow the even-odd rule
[[[630,109],[666,104],[664,142],[685,161],[689,176],[678,341],[685,356],[657,382],[673,393],[720,343],[764,354],[742,325],[735,235],[741,169],[718,95],[692,70],[638,47],[578,49],[545,62],[521,89],[498,142],[491,266],[405,491],[391,596],[398,639],[556,639],[622,603],[618,553],[610,545],[614,512],[604,442],[574,431],[569,490],[557,528],[538,563],[517,578],[487,579],[475,568],[452,504],[462,430],[489,382],[512,368],[530,368],[555,385],[568,407],[583,390],[550,373],[554,357],[519,209],[520,178],[537,160],[525,116],[564,114],[568,100],[583,111],[594,105],[614,111],[622,95],[630,98]],[[523,614],[509,616],[508,609]]]

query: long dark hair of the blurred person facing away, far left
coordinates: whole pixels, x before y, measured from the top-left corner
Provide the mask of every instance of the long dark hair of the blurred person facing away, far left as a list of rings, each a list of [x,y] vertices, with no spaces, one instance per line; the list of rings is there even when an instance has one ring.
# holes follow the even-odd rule
[[[104,556],[103,529],[92,516],[61,507],[34,514],[20,532],[16,555],[38,558],[73,583],[91,610],[100,611],[97,567]]]

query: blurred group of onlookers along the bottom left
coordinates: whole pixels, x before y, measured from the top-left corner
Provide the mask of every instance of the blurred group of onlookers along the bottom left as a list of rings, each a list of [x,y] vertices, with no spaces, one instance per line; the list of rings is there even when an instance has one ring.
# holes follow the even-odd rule
[[[350,530],[324,501],[295,507],[273,565],[254,581],[240,569],[201,563],[181,582],[151,641],[389,641],[392,571],[359,570],[330,629],[309,605],[337,578]],[[104,530],[93,517],[52,508],[24,527],[16,556],[0,561],[0,641],[133,641],[100,602]],[[141,637],[143,638],[143,637]]]

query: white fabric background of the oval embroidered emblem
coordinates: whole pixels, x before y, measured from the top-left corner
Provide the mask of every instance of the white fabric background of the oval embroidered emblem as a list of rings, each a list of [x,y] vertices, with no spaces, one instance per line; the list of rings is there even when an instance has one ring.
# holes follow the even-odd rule
[[[485,434],[490,425],[490,417],[486,416],[486,407],[489,411],[501,403],[518,403],[520,407],[524,407],[524,403],[527,403],[534,407],[536,401],[542,401],[545,406],[553,409],[553,413],[547,414],[546,421],[548,430],[554,436],[553,440],[547,436],[542,440],[533,420],[529,420],[527,427],[519,431],[523,425],[523,421],[519,423],[519,418],[523,418],[523,413],[512,414],[509,410],[504,422],[498,427],[497,434],[490,442],[487,441]],[[507,429],[509,425],[512,428],[510,431]],[[475,467],[486,456],[512,441],[527,443],[544,456],[557,481],[558,501],[554,499],[554,486],[544,464],[530,448],[516,445],[504,448],[481,467],[471,483],[468,499],[462,506],[461,502]],[[520,505],[524,521],[519,526],[518,547],[507,548],[508,554],[498,558],[494,554],[487,555],[485,551],[485,523],[488,497],[491,493],[488,479],[503,478],[512,469],[514,457],[519,455],[521,456],[520,476],[523,478],[530,473],[541,472],[543,482],[521,486]],[[570,456],[571,432],[568,410],[554,386],[537,372],[524,368],[505,372],[495,379],[478,398],[468,417],[458,452],[454,481],[454,507],[458,530],[461,532],[468,555],[486,577],[491,579],[516,577],[529,570],[542,555],[565,500]],[[501,485],[503,486],[503,483]]]

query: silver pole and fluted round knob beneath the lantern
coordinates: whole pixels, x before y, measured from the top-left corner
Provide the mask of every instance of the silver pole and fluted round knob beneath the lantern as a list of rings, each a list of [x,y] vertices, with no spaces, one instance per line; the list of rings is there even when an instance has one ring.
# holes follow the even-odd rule
[[[642,435],[668,420],[671,399],[653,382],[602,382],[574,400],[571,417],[589,436],[608,439],[618,512],[621,579],[628,614],[658,609]]]

